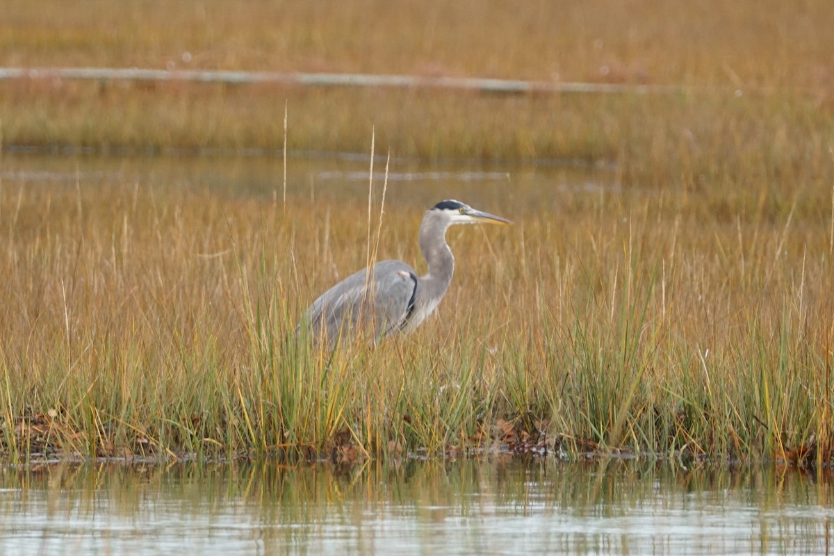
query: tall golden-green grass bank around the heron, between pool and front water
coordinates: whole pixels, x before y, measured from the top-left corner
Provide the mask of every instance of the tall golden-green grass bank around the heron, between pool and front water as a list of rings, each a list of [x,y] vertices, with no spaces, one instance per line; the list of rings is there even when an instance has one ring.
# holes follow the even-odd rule
[[[364,203],[3,183],[3,454],[829,463],[832,193],[508,198],[514,228],[450,232],[438,318],[331,353],[294,328],[364,265]],[[421,261],[420,217],[388,207],[380,257]]]

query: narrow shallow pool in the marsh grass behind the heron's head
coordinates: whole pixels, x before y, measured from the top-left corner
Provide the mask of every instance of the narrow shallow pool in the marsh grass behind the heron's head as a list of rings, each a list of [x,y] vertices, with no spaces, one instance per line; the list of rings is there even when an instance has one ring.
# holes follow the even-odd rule
[[[516,207],[542,208],[559,203],[559,194],[620,194],[611,168],[581,163],[541,161],[516,165],[467,161],[395,160],[387,172],[386,205],[425,210],[445,198],[483,208],[513,201]],[[325,200],[368,198],[370,159],[364,154],[296,154],[287,160],[214,154],[119,156],[44,153],[13,149],[0,158],[0,179],[9,184],[52,183],[56,187],[110,183],[133,187],[190,188],[227,196],[264,198],[288,203],[293,198]],[[386,182],[386,159],[374,159],[374,191]]]

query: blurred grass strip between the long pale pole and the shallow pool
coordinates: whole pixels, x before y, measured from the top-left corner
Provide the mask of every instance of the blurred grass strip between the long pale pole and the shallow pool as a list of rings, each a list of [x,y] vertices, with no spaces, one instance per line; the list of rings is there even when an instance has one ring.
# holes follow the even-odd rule
[[[756,195],[755,186],[786,198],[831,172],[834,114],[789,92],[508,98],[197,84],[0,87],[7,146],[279,154],[285,106],[297,151],[365,152],[373,129],[379,150],[398,157],[614,164],[625,186],[715,188],[722,197],[728,187]]]

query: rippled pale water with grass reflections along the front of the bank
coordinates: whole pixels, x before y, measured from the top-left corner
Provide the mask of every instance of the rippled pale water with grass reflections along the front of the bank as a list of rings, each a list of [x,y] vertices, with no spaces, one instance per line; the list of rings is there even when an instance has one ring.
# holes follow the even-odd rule
[[[827,553],[831,473],[620,460],[53,464],[0,553]]]

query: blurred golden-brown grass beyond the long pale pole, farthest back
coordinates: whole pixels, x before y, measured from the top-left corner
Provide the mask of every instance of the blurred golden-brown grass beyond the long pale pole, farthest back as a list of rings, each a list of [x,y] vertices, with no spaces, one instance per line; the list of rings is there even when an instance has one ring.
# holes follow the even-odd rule
[[[834,78],[834,10],[821,1],[534,0],[519,8],[475,0],[83,0],[68,8],[10,0],[5,12],[0,61],[7,66],[173,63],[788,88],[830,87]]]

